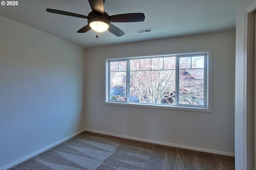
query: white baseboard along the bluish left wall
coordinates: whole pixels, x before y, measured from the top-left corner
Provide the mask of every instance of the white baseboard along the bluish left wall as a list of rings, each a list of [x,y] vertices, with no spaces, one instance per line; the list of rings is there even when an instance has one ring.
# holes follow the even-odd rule
[[[68,140],[68,139],[70,139],[70,138],[72,138],[72,137],[74,137],[74,136],[76,136],[79,133],[82,133],[84,131],[86,131],[86,129],[82,129],[81,131],[78,131],[78,132],[74,133],[73,135],[65,137],[64,139],[62,139],[62,140],[60,140],[58,142],[55,142],[52,145],[49,145],[49,146],[47,146],[47,147],[45,147],[43,149],[40,149],[40,150],[38,150],[38,151],[36,151],[36,152],[34,152],[32,154],[29,154],[28,156],[25,156],[25,157],[23,157],[23,158],[21,158],[19,160],[16,160],[16,161],[14,161],[14,162],[12,162],[12,163],[10,163],[10,164],[0,168],[0,170],[7,170],[8,168],[11,168],[12,166],[15,166],[15,165],[17,165],[17,164],[19,164],[21,162],[24,162],[25,160],[28,160],[29,158],[32,158],[33,156],[36,156],[37,154],[40,154],[40,153],[42,153],[42,152],[44,152],[44,151],[46,151],[48,149],[51,149],[52,147],[55,147],[56,145],[59,145],[60,143],[65,142],[66,140]]]

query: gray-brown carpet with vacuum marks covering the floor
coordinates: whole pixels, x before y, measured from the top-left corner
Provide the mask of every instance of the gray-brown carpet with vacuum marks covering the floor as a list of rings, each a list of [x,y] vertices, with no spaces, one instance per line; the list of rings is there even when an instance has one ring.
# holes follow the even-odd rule
[[[85,131],[9,170],[234,170],[234,157]]]

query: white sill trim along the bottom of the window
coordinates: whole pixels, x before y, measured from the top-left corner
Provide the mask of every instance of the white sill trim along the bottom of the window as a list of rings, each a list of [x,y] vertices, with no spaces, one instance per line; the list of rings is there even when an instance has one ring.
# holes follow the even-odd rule
[[[212,109],[205,107],[184,107],[184,106],[167,106],[158,104],[136,104],[136,103],[124,103],[124,102],[105,102],[106,105],[114,106],[128,106],[128,107],[144,107],[152,109],[170,109],[170,110],[184,110],[184,111],[200,111],[200,112],[212,112]]]

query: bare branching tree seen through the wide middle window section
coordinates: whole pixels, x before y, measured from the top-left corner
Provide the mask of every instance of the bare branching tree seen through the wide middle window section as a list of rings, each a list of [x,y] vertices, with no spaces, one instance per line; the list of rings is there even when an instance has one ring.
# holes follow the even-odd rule
[[[130,60],[130,82],[138,102],[175,103],[176,57]]]

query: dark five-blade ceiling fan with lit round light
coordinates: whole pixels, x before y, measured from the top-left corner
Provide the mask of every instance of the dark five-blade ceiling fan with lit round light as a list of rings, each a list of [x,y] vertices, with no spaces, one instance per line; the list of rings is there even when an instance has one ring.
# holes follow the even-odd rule
[[[66,16],[73,16],[78,18],[85,18],[88,20],[88,25],[82,27],[77,32],[85,33],[90,29],[94,29],[97,32],[110,31],[114,35],[120,37],[124,35],[124,31],[113,25],[111,22],[140,22],[144,21],[145,15],[143,13],[129,13],[129,14],[118,14],[109,16],[104,12],[104,2],[105,0],[88,0],[92,8],[92,11],[88,16],[81,14],[75,14],[72,12],[60,11],[47,8],[47,12],[54,14],[61,14]]]

